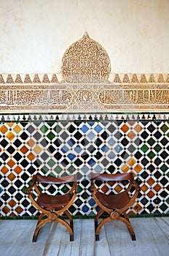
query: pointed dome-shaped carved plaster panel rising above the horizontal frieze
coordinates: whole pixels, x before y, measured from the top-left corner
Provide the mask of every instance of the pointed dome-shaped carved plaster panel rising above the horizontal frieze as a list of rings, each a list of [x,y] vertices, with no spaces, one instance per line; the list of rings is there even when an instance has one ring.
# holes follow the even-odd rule
[[[110,71],[106,50],[87,33],[66,50],[62,59],[61,72],[67,83],[103,83]]]

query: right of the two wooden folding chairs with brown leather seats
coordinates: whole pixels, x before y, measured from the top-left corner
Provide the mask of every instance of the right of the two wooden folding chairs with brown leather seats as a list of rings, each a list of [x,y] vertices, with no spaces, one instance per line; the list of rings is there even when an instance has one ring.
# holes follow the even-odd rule
[[[127,216],[127,209],[133,205],[135,198],[138,195],[140,187],[134,180],[132,173],[119,173],[119,174],[96,174],[92,173],[90,177],[91,181],[91,193],[98,206],[101,207],[98,214],[95,216],[95,240],[99,241],[99,233],[101,227],[109,222],[110,220],[117,219],[127,225],[132,240],[135,240],[135,233],[132,225],[130,224]],[[127,181],[127,182],[126,182]],[[122,192],[111,191],[109,195],[99,191],[97,183],[101,186],[101,183],[109,183],[114,185],[115,183],[122,183],[125,189]],[[114,186],[112,186],[114,187]],[[132,189],[132,193],[130,193]],[[106,211],[109,217],[103,218],[98,224],[98,219]]]

